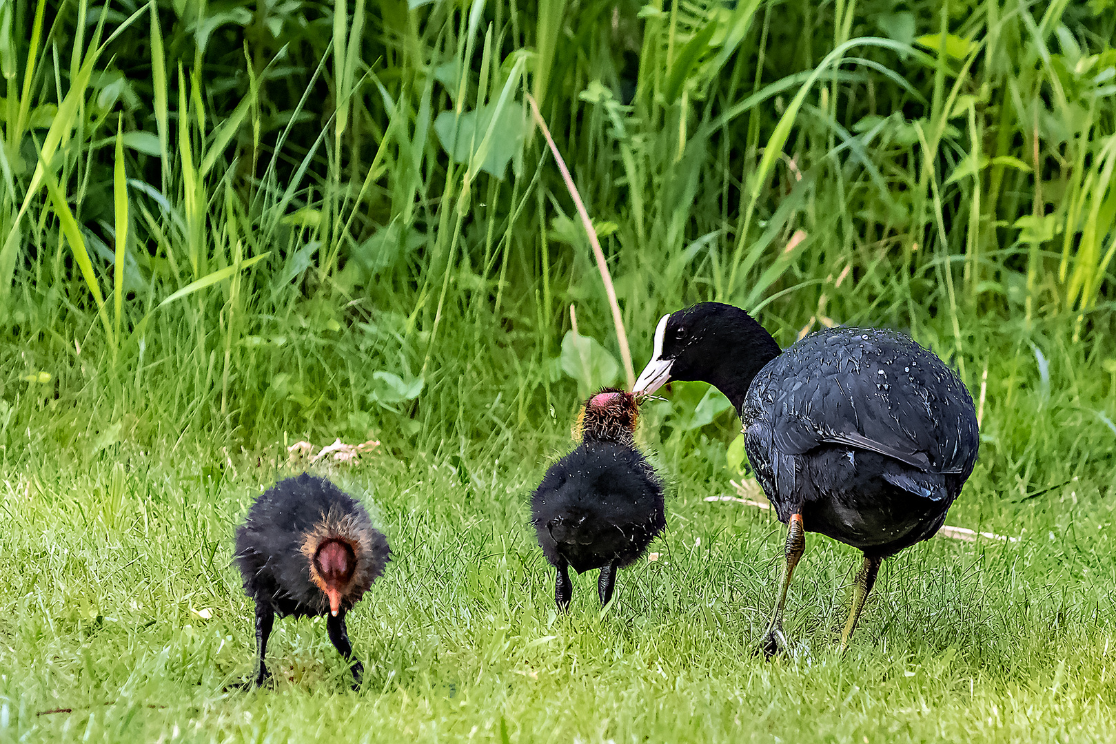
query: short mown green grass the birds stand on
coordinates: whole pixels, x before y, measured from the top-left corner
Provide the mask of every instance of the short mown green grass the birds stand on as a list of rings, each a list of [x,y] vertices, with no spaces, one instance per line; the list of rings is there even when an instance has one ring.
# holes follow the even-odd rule
[[[1071,359],[1050,357],[1064,379]],[[739,476],[724,461],[731,414],[683,431],[674,414],[655,426],[648,412],[641,436],[673,483],[670,529],[652,547],[657,561],[620,573],[604,613],[588,576],[569,616],[556,615],[552,571],[526,524],[527,494],[569,446],[567,412],[514,443],[468,444],[452,463],[427,433],[385,441],[352,468],[320,467],[363,494],[395,553],[350,616],[367,667],[359,693],[321,624],[290,619],[272,636],[276,688],[223,692],[253,653],[232,530],[296,468],[282,448],[294,434],[240,452],[189,433],[140,443],[96,432],[83,408],[28,403],[40,425],[27,448],[6,451],[0,501],[0,736],[1107,741],[1116,433],[1081,403],[1096,395],[1110,410],[1113,393],[1083,377],[1046,397],[1030,349],[989,358],[982,457],[947,522],[1019,541],[936,538],[887,561],[844,658],[859,558],[819,535],[788,605],[793,657],[752,656],[783,528],[704,501],[733,493]],[[1006,385],[1021,364],[1020,384]],[[673,397],[682,407],[703,388]],[[81,431],[61,447],[59,429]],[[57,708],[70,711],[42,713]]]

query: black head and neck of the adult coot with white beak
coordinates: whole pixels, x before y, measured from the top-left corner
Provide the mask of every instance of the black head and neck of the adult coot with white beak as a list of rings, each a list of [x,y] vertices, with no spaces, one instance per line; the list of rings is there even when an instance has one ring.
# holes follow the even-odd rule
[[[750,315],[701,302],[658,321],[655,350],[632,392],[648,395],[671,380],[701,380],[737,404],[756,373],[778,355],[779,345]]]

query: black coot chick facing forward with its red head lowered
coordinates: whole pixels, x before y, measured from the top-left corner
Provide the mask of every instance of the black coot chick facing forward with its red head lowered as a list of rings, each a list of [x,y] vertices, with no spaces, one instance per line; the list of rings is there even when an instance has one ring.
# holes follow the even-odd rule
[[[275,616],[328,615],[329,640],[353,663],[353,688],[364,666],[353,656],[345,613],[353,609],[389,560],[387,539],[372,526],[358,501],[323,477],[302,473],[266,491],[237,528],[233,555],[244,593],[256,600],[254,680],[270,676],[263,656]]]

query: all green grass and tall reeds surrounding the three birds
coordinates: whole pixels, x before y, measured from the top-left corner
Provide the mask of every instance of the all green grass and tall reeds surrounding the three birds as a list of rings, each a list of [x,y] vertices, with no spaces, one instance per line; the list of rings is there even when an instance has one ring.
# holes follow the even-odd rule
[[[1114,33],[1109,0],[0,0],[0,736],[1104,738]],[[781,538],[702,501],[747,465],[679,385],[642,428],[670,560],[555,619],[523,495],[623,370],[528,95],[636,370],[703,299],[783,345],[907,330],[980,409],[950,522],[1023,539],[907,551],[845,666],[853,559],[816,539],[817,654],[753,661]],[[229,698],[231,525],[282,445],[337,436],[382,442],[344,477],[398,545],[354,621],[383,695],[299,682],[331,651],[296,624],[286,702]]]

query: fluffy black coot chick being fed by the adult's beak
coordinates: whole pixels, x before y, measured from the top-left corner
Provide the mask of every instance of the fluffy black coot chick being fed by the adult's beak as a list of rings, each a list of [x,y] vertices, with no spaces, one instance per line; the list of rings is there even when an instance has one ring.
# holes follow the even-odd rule
[[[663,484],[635,448],[636,404],[606,389],[581,413],[581,444],[547,470],[531,496],[531,524],[557,569],[555,601],[569,607],[578,573],[600,569],[602,606],[613,596],[616,569],[634,563],[666,528]]]

